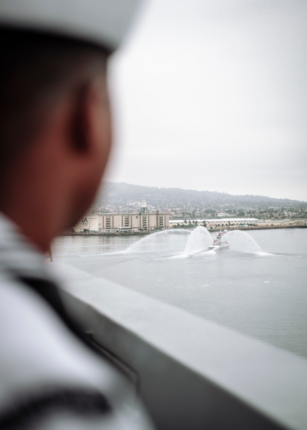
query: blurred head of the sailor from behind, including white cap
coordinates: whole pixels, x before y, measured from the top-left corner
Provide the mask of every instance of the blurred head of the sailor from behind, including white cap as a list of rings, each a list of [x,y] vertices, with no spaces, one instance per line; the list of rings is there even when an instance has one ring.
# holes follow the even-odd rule
[[[111,147],[107,58],[137,3],[0,2],[0,210],[43,247],[95,197]]]

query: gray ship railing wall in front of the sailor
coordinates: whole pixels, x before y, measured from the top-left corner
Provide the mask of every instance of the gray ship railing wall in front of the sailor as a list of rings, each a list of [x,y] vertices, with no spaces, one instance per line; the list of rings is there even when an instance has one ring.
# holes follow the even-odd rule
[[[159,430],[307,429],[307,360],[75,268],[69,312]]]

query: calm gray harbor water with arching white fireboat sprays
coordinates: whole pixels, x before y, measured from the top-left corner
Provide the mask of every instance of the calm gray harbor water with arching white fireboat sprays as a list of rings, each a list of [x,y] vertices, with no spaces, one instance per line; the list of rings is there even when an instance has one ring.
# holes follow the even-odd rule
[[[213,235],[212,235],[213,236]],[[307,357],[307,229],[59,237],[63,261]]]

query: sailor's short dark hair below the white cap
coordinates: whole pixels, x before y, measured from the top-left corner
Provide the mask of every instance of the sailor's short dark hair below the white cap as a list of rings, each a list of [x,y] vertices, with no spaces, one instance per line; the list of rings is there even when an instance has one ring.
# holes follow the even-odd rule
[[[67,37],[0,28],[0,174],[24,154],[57,95],[105,73],[109,53]]]

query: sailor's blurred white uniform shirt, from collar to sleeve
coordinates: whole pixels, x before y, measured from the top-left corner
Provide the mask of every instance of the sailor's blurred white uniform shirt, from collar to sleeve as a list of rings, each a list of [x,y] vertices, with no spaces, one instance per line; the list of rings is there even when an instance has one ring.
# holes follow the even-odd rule
[[[20,279],[52,264],[0,215],[0,428],[152,429],[132,387]]]

